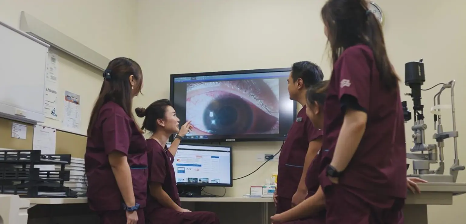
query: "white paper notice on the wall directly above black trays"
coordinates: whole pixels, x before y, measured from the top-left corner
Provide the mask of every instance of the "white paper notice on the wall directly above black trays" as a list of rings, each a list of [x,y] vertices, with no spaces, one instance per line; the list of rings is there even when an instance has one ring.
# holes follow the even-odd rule
[[[32,149],[41,150],[41,154],[53,155],[56,147],[56,129],[34,125]],[[55,165],[35,165],[41,170],[55,170]]]

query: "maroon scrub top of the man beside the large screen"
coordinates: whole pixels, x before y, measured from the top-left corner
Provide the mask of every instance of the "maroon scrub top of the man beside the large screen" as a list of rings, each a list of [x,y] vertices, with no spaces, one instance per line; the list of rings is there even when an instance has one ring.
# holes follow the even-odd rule
[[[293,197],[301,179],[309,143],[321,137],[322,130],[314,127],[306,115],[306,106],[302,107],[281,147],[277,176],[278,197]]]

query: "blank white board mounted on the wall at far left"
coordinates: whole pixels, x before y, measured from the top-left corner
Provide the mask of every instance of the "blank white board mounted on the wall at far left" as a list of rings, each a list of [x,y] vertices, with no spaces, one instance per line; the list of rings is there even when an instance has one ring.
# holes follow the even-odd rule
[[[0,22],[0,116],[44,122],[45,69],[49,45]]]

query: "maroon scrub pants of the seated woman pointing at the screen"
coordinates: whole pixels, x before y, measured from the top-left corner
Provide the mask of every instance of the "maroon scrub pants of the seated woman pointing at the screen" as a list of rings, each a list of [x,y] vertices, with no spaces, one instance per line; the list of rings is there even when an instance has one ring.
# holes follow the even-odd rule
[[[178,212],[170,208],[158,208],[146,215],[149,224],[220,224],[217,215],[210,211]]]

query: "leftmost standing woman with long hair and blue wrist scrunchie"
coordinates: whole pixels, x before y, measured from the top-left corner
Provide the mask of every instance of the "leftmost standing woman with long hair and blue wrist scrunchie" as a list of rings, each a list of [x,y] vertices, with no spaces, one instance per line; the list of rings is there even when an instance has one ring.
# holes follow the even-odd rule
[[[142,86],[136,61],[110,61],[90,115],[84,155],[87,197],[101,224],[144,224],[146,142],[131,113],[133,97]]]

